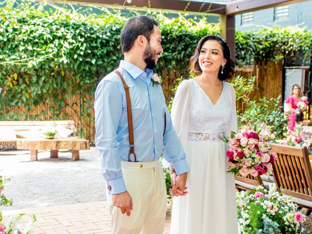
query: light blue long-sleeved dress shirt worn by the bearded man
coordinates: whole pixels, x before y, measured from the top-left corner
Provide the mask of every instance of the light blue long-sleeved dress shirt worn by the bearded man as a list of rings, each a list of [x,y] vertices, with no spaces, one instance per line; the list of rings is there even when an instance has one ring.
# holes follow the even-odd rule
[[[146,72],[132,63],[120,61],[118,71],[129,86],[132,104],[134,144],[137,161],[157,160],[161,153],[174,165],[178,175],[188,172],[182,144],[172,125],[160,85],[151,81],[153,71]],[[112,72],[98,84],[95,93],[96,146],[101,156],[101,172],[109,194],[125,192],[121,161],[128,161],[129,132],[125,90]],[[165,127],[166,132],[163,136]],[[134,156],[131,155],[134,161]]]

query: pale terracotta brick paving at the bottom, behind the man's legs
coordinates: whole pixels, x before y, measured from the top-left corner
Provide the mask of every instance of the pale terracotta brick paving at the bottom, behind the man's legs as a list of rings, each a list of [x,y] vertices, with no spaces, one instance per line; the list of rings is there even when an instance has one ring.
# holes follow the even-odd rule
[[[106,201],[3,211],[3,223],[10,215],[25,213],[20,224],[25,226],[36,215],[35,234],[111,234],[109,209]],[[167,215],[164,234],[169,234]]]

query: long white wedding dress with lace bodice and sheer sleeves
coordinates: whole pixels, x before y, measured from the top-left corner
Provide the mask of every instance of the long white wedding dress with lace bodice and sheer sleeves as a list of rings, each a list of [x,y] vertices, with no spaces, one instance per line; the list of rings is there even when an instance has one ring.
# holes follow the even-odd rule
[[[227,145],[221,135],[237,130],[235,90],[223,82],[212,103],[195,79],[183,80],[172,121],[189,167],[185,196],[174,197],[170,234],[237,234],[234,175],[227,173]]]

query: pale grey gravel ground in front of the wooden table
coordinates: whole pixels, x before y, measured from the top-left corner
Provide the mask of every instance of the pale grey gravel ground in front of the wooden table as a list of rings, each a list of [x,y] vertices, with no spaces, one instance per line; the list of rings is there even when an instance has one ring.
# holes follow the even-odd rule
[[[105,181],[100,173],[98,149],[80,151],[80,160],[71,161],[69,151],[39,151],[30,161],[30,151],[0,152],[0,175],[11,178],[3,194],[13,199],[1,210],[75,204],[106,200]]]

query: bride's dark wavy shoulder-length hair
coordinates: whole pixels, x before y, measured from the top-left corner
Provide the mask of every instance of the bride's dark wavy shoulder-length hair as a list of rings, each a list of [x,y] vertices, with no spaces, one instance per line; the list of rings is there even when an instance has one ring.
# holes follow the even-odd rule
[[[208,35],[199,40],[195,49],[195,53],[190,59],[190,68],[189,68],[190,72],[193,72],[196,76],[199,76],[202,73],[202,70],[198,63],[198,57],[201,51],[201,47],[207,40],[218,41],[222,48],[223,57],[224,59],[227,60],[223,68],[223,74],[221,73],[221,66],[220,66],[218,78],[220,80],[226,80],[226,79],[232,78],[235,75],[235,72],[234,72],[235,63],[230,58],[230,55],[231,55],[230,47],[223,38],[217,35]]]

